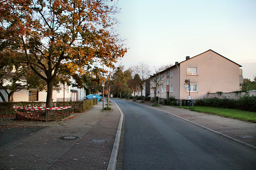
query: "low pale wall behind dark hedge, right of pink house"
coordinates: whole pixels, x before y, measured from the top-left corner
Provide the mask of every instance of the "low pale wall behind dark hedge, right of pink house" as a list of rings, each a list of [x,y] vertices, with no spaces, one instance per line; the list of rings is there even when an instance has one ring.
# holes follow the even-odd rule
[[[207,98],[220,98],[220,99],[224,99],[224,98],[228,98],[228,99],[238,99],[242,96],[256,96],[256,90],[250,90],[247,92],[229,92],[229,93],[208,93],[208,97]]]

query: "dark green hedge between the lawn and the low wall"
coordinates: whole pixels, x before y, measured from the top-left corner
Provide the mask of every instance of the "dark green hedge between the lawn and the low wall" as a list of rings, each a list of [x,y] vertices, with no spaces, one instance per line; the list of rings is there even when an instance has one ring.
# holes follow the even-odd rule
[[[234,99],[219,99],[219,98],[207,98],[198,99],[195,102],[195,106],[208,106],[208,107],[220,107],[230,109],[241,109],[248,111],[256,111],[256,96],[243,96],[238,100]]]

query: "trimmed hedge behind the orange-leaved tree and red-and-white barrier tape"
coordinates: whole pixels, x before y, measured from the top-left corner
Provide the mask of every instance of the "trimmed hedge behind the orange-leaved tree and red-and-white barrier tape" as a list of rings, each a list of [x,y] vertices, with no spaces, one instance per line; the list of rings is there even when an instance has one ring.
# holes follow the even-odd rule
[[[81,113],[97,104],[97,99],[82,102],[53,102],[52,107],[71,106],[71,112]],[[44,107],[46,102],[0,102],[0,115],[15,115],[17,106]]]

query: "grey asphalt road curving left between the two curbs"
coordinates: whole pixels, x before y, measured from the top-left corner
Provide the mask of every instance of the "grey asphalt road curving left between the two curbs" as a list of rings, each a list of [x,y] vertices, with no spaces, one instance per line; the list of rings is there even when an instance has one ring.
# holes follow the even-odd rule
[[[124,170],[255,170],[255,150],[167,113],[114,101],[125,114]]]

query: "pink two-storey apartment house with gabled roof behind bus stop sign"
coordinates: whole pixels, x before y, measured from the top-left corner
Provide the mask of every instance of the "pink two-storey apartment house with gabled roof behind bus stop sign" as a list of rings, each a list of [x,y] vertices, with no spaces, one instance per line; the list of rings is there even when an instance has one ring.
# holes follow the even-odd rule
[[[187,56],[185,61],[176,62],[174,66],[159,73],[164,80],[159,89],[164,91],[156,96],[161,99],[174,96],[177,100],[187,100],[189,88],[184,87],[184,80],[188,79],[192,99],[207,98],[208,93],[238,91],[243,83],[240,67],[211,49],[192,58]],[[152,83],[155,77],[151,76],[150,79]],[[152,92],[151,97],[154,96]]]

